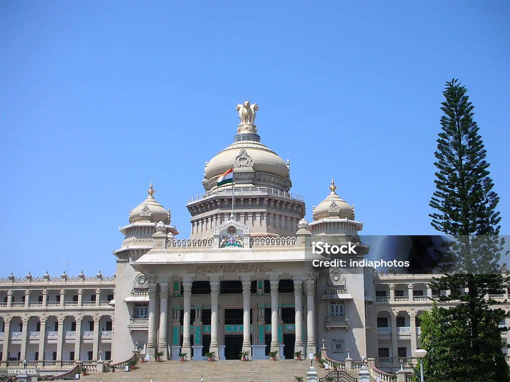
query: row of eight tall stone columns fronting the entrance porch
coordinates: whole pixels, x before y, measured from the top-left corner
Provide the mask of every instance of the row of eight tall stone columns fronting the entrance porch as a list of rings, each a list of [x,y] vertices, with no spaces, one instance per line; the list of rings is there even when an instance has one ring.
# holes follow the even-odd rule
[[[278,279],[271,279],[271,351],[279,350],[278,341]],[[315,346],[315,280],[307,279],[305,282],[305,292],[307,295],[307,351],[316,352]],[[218,298],[219,298],[219,280],[211,280],[211,344],[210,351],[215,351],[218,354],[219,349],[219,321],[218,321]],[[167,310],[168,310],[168,283],[159,283],[160,293],[160,315],[157,317],[157,297],[158,287],[156,283],[149,284],[149,306],[148,306],[148,338],[147,338],[147,353],[154,354],[156,348],[167,354],[168,336],[167,336]],[[184,317],[183,317],[183,344],[182,352],[191,354],[191,341],[190,341],[190,317],[191,317],[191,281],[183,281],[183,297],[184,297]],[[242,281],[242,294],[243,294],[243,351],[251,353],[250,341],[250,288],[251,281]],[[295,303],[295,350],[303,351],[303,338],[302,338],[302,293],[303,293],[303,280],[294,280],[294,303]],[[156,325],[159,321],[159,338],[156,342]]]

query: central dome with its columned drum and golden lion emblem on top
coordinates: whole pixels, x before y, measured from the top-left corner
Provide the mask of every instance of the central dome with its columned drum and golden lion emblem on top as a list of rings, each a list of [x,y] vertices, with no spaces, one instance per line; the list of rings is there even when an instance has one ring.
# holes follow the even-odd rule
[[[202,185],[206,194],[189,201],[191,238],[213,236],[215,225],[232,213],[232,184],[217,186],[231,167],[234,179],[234,216],[251,229],[251,236],[294,236],[305,214],[302,196],[290,192],[289,161],[260,143],[254,125],[257,104],[238,104],[240,124],[234,143],[206,162]]]

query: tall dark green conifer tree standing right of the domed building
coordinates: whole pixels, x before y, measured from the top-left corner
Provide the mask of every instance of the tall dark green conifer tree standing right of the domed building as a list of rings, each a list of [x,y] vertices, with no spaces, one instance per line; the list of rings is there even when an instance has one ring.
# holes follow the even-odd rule
[[[499,198],[492,190],[489,163],[473,105],[466,88],[452,79],[443,92],[442,132],[435,152],[438,169],[436,192],[430,206],[431,225],[452,235],[447,248],[449,274],[430,283],[430,288],[450,290],[438,301],[450,308],[435,308],[425,315],[422,346],[427,382],[510,381],[508,365],[501,351],[498,323],[509,317],[497,302],[486,299],[496,294],[504,280],[497,261],[504,240],[497,235],[501,217],[496,211]],[[452,271],[452,272],[450,272]],[[501,293],[501,292],[500,292]],[[439,328],[439,330],[438,330]]]

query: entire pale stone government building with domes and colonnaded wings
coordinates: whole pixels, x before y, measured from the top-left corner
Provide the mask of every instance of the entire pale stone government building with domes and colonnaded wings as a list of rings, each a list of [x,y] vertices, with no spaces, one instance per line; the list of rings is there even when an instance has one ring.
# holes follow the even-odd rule
[[[347,264],[369,254],[354,206],[331,180],[322,185],[324,200],[313,201],[313,221],[306,221],[303,197],[291,190],[289,161],[262,143],[254,124],[257,104],[236,109],[234,142],[206,162],[203,191],[188,200],[189,238],[178,238],[150,184],[122,222],[115,276],[0,279],[3,368],[65,370],[76,362],[121,362],[133,350],[161,352],[167,360],[182,353],[203,360],[214,352],[221,362],[239,359],[241,351],[253,360],[269,352],[287,360],[325,348],[330,359],[373,358],[385,371],[413,357],[420,314],[433,296],[449,291],[431,290],[427,274],[324,265],[334,255],[315,251],[319,242],[354,245],[350,254],[335,255]],[[507,288],[491,297],[509,310]],[[501,340],[506,351],[507,332]]]

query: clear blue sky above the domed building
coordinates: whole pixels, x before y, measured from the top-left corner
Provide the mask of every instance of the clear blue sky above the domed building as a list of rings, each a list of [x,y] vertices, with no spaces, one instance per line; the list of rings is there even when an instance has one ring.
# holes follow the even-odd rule
[[[509,2],[1,1],[0,276],[113,274],[145,197],[189,235],[204,162],[257,102],[292,191],[434,234],[444,83],[469,92],[510,233]]]

